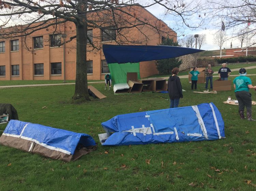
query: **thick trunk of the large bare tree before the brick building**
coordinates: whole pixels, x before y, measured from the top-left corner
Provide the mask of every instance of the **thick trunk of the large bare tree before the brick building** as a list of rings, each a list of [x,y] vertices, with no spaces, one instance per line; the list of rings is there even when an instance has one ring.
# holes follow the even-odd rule
[[[76,85],[73,99],[90,100],[87,85],[86,44],[87,23],[76,23]]]

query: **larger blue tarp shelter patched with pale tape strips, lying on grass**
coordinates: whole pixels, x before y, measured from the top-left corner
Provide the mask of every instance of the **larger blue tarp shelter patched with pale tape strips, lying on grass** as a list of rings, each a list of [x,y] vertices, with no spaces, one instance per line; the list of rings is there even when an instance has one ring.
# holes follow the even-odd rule
[[[101,140],[102,145],[202,141],[225,137],[224,121],[213,103],[117,115],[101,125],[107,132],[104,136],[99,135],[100,138],[105,137]]]

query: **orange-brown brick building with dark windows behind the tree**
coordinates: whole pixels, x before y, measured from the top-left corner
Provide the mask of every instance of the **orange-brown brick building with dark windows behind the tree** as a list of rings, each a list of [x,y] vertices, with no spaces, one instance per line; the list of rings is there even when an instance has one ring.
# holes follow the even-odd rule
[[[104,79],[109,72],[101,47],[104,43],[116,44],[113,38],[123,42],[122,38],[125,37],[128,39],[125,44],[133,42],[136,45],[158,45],[167,37],[177,41],[177,34],[162,20],[145,8],[134,7],[132,14],[147,20],[151,26],[124,29],[121,35],[120,32],[109,30],[110,36],[99,28],[88,28],[87,35],[99,47],[98,50],[87,45],[88,80]],[[127,7],[124,8],[129,11]],[[76,26],[72,22],[65,22],[56,28],[47,27],[26,37],[0,39],[0,80],[75,80],[76,40],[61,46],[59,44],[76,35]],[[157,73],[153,61],[140,62],[141,78]]]

